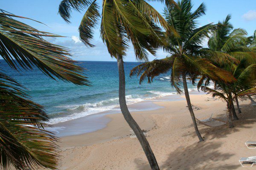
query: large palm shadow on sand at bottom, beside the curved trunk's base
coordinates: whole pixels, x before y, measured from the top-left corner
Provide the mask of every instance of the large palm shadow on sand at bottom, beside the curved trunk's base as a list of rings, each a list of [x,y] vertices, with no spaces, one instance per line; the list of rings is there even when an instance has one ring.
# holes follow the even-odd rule
[[[216,161],[224,161],[233,156],[230,153],[220,153],[218,148],[221,143],[204,143],[192,144],[190,146],[181,146],[169,153],[168,158],[160,163],[161,170],[233,170],[240,165],[216,164]],[[150,170],[147,162],[135,159],[137,170]]]

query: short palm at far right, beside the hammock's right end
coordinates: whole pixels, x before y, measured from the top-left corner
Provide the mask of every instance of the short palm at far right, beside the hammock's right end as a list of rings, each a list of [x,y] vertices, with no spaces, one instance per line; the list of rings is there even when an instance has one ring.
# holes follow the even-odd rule
[[[202,77],[199,81],[200,83],[198,83],[198,88],[201,86],[204,92],[208,92],[212,94],[213,97],[217,96],[227,102],[230,128],[234,127],[232,121],[232,114],[235,111],[233,100],[237,99],[238,96],[242,97],[248,94],[255,94],[256,64],[246,67],[246,63],[246,59],[242,59],[238,65],[231,64],[226,66],[226,70],[230,71],[236,78],[235,82],[227,83],[221,80],[213,80],[215,89],[206,86],[209,84],[209,79],[206,77]],[[205,86],[202,86],[204,81],[206,82]]]

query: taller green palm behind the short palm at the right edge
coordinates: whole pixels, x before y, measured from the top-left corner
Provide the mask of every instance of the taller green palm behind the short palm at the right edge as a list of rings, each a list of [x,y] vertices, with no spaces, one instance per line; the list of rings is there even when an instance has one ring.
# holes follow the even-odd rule
[[[219,67],[222,67],[222,65],[225,65],[228,61],[235,62],[235,64],[237,64],[241,59],[246,59],[247,66],[256,63],[255,51],[253,51],[253,48],[248,48],[249,45],[246,45],[250,39],[246,37],[247,32],[241,28],[233,29],[230,19],[231,15],[227,15],[223,22],[218,22],[215,29],[209,36],[209,49],[204,49],[203,54],[205,52],[208,54],[211,54],[212,52],[218,54],[220,56],[218,60],[212,60],[211,55],[208,55],[208,59],[215,62]],[[253,40],[250,39],[250,42],[252,42],[251,47],[253,47]],[[207,56],[207,54],[205,56]],[[237,97],[235,99],[239,108]],[[233,101],[231,101],[231,105],[233,119],[237,120],[238,117],[236,115]]]

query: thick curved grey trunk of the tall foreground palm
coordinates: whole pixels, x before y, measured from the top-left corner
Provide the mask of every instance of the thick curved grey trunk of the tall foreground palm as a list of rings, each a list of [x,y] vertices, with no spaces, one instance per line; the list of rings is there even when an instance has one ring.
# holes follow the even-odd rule
[[[124,71],[124,65],[122,57],[117,57],[117,66],[118,66],[118,72],[119,72],[119,105],[122,111],[122,114],[128,123],[128,125],[131,127],[131,129],[134,131],[135,135],[137,136],[145,155],[147,156],[148,162],[151,166],[152,170],[160,170],[157,164],[157,160],[154,156],[153,151],[151,150],[151,147],[149,146],[149,143],[144,136],[142,130],[140,129],[139,125],[133,117],[131,116],[131,113],[128,110],[128,107],[126,105],[125,100],[125,71]]]

